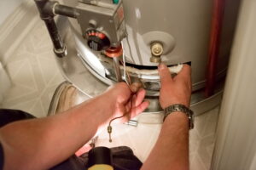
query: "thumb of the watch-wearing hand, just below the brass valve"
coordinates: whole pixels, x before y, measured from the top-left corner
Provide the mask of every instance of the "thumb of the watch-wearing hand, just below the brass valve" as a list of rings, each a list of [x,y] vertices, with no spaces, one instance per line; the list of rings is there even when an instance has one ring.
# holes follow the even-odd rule
[[[171,72],[169,71],[168,67],[165,64],[160,64],[158,66],[159,76],[161,87],[165,86],[166,84],[172,83],[172,76]]]

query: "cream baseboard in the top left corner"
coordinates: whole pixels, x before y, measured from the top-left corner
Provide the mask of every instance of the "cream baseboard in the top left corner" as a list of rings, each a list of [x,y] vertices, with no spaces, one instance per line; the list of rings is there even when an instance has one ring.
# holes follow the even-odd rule
[[[40,19],[34,1],[26,0],[3,22],[0,27],[0,61],[3,65],[6,65],[38,20]]]

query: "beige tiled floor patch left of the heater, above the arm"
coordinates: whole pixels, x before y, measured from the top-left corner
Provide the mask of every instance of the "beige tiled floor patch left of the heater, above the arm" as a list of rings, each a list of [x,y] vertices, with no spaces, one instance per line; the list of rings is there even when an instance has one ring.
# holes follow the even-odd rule
[[[64,81],[52,50],[44,23],[38,20],[6,65],[13,87],[3,100],[2,108],[46,116],[55,88]]]

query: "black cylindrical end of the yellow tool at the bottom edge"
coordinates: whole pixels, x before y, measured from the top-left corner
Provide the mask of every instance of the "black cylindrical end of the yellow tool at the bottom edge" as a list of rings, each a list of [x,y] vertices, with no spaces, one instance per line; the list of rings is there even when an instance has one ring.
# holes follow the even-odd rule
[[[88,166],[94,167],[96,165],[106,165],[112,167],[113,158],[111,150],[107,147],[96,147],[89,151]]]

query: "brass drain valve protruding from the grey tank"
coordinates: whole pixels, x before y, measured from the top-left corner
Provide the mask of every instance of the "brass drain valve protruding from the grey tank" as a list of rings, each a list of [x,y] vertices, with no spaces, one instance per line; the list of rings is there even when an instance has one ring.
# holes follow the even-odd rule
[[[153,42],[151,44],[151,58],[150,62],[152,63],[160,63],[161,62],[161,55],[164,52],[163,45],[160,42]]]

